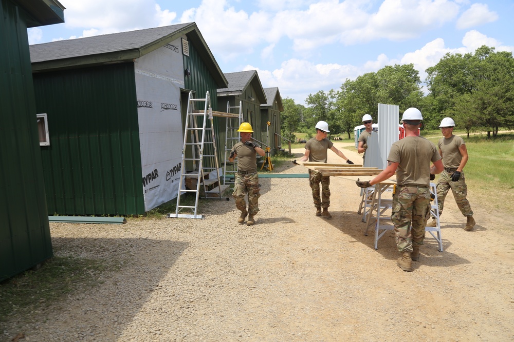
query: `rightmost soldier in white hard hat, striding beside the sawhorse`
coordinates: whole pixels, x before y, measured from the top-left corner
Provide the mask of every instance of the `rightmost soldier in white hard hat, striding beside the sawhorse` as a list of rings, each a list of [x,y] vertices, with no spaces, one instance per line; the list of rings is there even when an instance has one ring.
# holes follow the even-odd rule
[[[466,186],[463,171],[469,158],[468,150],[466,149],[464,140],[460,136],[453,135],[453,127],[455,127],[455,122],[450,117],[445,117],[439,125],[443,137],[439,139],[437,146],[439,147],[439,154],[443,157],[443,165],[445,168],[437,182],[439,217],[443,213],[446,195],[451,189],[458,209],[467,217],[464,230],[471,231],[475,226],[475,220],[471,206],[466,198],[468,195],[468,187]],[[428,224],[429,227],[435,227],[436,225],[437,221],[435,219]]]

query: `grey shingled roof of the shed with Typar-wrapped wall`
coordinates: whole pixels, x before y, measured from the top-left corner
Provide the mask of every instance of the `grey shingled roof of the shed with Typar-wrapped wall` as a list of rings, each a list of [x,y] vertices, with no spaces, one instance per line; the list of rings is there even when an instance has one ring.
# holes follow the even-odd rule
[[[193,44],[218,87],[227,86],[225,75],[195,23],[30,45],[30,62],[33,72],[131,62],[182,35],[186,35]]]

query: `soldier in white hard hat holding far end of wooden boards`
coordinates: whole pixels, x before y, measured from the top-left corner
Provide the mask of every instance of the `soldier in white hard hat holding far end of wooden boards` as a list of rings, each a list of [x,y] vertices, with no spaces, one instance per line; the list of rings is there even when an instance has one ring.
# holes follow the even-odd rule
[[[321,162],[326,163],[327,150],[331,149],[335,154],[346,160],[346,163],[353,164],[352,161],[339,151],[334,144],[327,139],[328,124],[320,121],[316,124],[316,136],[308,140],[305,144],[305,155],[300,159],[301,162]],[[293,160],[296,163],[296,160]],[[320,196],[320,183],[321,183],[321,196]],[[330,206],[330,176],[323,176],[321,172],[309,169],[309,185],[313,190],[314,206],[316,207],[316,216],[325,218],[332,218],[328,212]],[[323,212],[321,211],[323,208]]]

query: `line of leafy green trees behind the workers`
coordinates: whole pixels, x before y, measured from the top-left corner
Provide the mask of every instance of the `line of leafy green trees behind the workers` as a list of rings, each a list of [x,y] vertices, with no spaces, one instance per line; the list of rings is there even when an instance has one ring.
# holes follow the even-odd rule
[[[318,91],[305,99],[307,107],[284,98],[282,135],[294,141],[293,132],[312,134],[319,120],[331,134],[347,134],[361,125],[362,115],[378,118],[378,104],[399,106],[400,117],[409,107],[423,113],[424,128],[436,129],[452,117],[468,135],[475,130],[496,136],[500,128],[514,128],[514,58],[482,46],[474,53],[447,53],[426,70],[426,91],[413,64],[386,66],[356,79],[346,79],[339,90]]]

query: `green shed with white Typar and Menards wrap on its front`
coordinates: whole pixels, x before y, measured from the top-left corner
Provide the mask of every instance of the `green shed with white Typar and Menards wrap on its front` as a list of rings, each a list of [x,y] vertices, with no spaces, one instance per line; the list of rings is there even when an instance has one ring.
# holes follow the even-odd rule
[[[176,197],[188,94],[209,91],[215,109],[228,85],[195,23],[32,45],[30,56],[50,215],[143,214]]]

